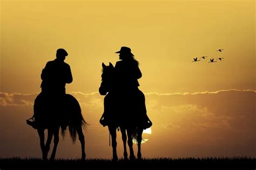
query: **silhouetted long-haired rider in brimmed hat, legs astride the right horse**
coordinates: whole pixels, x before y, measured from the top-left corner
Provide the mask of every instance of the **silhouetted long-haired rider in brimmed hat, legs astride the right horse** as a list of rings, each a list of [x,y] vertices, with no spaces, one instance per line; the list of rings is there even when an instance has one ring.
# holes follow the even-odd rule
[[[120,59],[120,61],[116,62],[116,66],[114,67],[114,73],[116,78],[116,84],[114,85],[114,88],[116,89],[116,95],[118,98],[118,101],[116,102],[119,104],[120,108],[125,106],[124,103],[126,105],[137,105],[137,108],[139,108],[138,105],[140,103],[138,100],[136,100],[137,98],[140,98],[138,79],[142,77],[142,72],[140,72],[139,69],[139,62],[134,59],[134,55],[131,53],[131,48],[129,47],[121,47],[120,51],[116,53],[119,53]],[[120,100],[122,100],[122,102],[120,102]],[[107,101],[104,100],[104,103],[105,102]],[[140,105],[144,105],[144,110],[142,112],[145,112],[145,115],[143,115],[143,128],[150,128],[152,122],[146,115],[145,103],[141,103]],[[109,122],[109,113],[106,108],[107,107],[104,107],[104,113],[102,115],[102,118],[100,119],[100,123],[103,126],[107,125]]]

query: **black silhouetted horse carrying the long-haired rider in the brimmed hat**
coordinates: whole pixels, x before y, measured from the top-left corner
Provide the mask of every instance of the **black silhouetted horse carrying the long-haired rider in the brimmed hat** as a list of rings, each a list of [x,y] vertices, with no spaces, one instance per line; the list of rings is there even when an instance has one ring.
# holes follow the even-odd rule
[[[150,119],[146,116],[145,96],[142,91],[138,90],[135,95],[120,95],[116,90],[114,67],[110,62],[109,66],[102,63],[102,82],[99,87],[100,95],[104,97],[104,114],[100,118],[103,126],[108,126],[112,139],[113,161],[117,161],[117,133],[120,128],[124,145],[124,159],[128,159],[126,150],[126,140],[130,148],[130,160],[134,160],[133,139],[136,139],[138,145],[137,159],[142,159],[141,142],[144,129],[152,125]],[[129,96],[129,97],[127,97]],[[138,100],[136,100],[136,98]],[[129,102],[133,101],[133,102]],[[143,121],[146,117],[146,122]],[[147,121],[149,120],[149,122]],[[127,134],[126,134],[127,131]]]

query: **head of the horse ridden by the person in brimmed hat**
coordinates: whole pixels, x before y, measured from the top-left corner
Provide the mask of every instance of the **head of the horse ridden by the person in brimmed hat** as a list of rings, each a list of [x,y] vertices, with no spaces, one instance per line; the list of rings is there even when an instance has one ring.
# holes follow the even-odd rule
[[[114,80],[114,66],[112,63],[109,63],[109,66],[106,66],[104,62],[102,63],[102,83],[99,87],[99,94],[106,95],[107,92],[111,91],[111,87]]]

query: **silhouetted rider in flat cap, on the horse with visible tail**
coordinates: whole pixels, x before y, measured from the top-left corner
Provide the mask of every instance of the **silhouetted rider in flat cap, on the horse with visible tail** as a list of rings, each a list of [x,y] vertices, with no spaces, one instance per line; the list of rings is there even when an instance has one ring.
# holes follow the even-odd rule
[[[55,102],[55,104],[61,104],[63,102],[66,94],[65,85],[73,81],[70,66],[64,62],[66,56],[68,56],[68,53],[65,49],[59,48],[57,49],[56,59],[46,63],[41,74],[42,92],[37,96],[35,103],[39,100],[38,98],[43,98],[47,103]],[[33,117],[36,118],[37,116],[34,113]],[[27,121],[27,123],[33,128],[37,128],[37,121]],[[64,126],[66,125],[68,125],[68,122],[64,123]]]

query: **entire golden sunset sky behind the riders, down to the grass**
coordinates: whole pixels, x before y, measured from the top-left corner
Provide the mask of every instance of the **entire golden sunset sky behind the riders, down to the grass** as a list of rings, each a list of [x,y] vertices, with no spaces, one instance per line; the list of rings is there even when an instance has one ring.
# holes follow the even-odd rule
[[[102,62],[116,63],[121,46],[140,62],[153,122],[143,157],[255,157],[255,1],[0,0],[0,11],[0,157],[41,157],[25,119],[42,69],[64,48],[73,74],[66,92],[90,124],[87,157],[111,158],[97,91]],[[79,147],[60,140],[57,157],[80,157]]]

